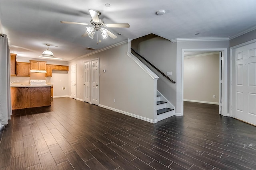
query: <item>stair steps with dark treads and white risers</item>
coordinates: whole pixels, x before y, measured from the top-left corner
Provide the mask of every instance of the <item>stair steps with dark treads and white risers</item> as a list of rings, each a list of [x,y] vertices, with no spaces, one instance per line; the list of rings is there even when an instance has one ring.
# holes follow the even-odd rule
[[[156,96],[157,121],[161,121],[174,115],[174,106],[164,98],[158,91]]]

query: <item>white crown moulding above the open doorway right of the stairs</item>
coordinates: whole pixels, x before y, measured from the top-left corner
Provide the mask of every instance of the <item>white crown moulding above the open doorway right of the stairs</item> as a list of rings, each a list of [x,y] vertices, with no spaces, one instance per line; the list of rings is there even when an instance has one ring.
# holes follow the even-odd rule
[[[175,38],[170,39],[172,43],[176,42],[191,42],[191,41],[229,41],[229,37],[200,37],[200,38]]]

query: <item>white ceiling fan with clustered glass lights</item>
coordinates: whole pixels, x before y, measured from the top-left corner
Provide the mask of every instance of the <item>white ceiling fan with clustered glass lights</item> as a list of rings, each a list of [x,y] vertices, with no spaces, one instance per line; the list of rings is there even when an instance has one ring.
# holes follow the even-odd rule
[[[88,25],[86,27],[86,32],[82,35],[82,37],[85,37],[88,35],[91,39],[93,39],[95,31],[100,31],[103,39],[106,39],[108,36],[110,36],[112,39],[117,38],[114,33],[110,32],[104,27],[107,28],[129,28],[130,25],[128,23],[104,23],[101,19],[99,19],[100,12],[89,10],[90,16],[92,17],[92,20],[90,23],[80,23],[80,22],[69,22],[69,21],[60,21],[60,23],[70,23],[70,24],[78,24],[78,25]],[[91,27],[94,26],[94,27]]]

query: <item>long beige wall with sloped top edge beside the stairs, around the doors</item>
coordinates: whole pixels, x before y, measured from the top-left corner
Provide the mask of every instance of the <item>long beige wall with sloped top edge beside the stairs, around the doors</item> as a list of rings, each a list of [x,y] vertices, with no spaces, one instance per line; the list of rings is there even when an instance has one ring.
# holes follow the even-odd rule
[[[99,58],[100,98],[99,106],[131,113],[138,118],[150,121],[156,119],[154,114],[154,82],[144,70],[128,57],[127,43],[112,47],[105,51],[71,61],[69,66],[76,64],[77,68],[77,98],[84,95],[84,62]],[[103,72],[106,69],[106,72]],[[70,72],[68,73],[70,76]],[[70,79],[69,79],[70,81]],[[68,83],[68,89],[71,82]],[[71,91],[69,90],[69,96]],[[79,95],[80,94],[80,95]],[[113,102],[113,99],[116,102]]]

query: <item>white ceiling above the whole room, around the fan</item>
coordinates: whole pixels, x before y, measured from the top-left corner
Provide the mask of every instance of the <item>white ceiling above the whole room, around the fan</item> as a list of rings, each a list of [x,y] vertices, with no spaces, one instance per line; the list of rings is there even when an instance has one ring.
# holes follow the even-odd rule
[[[108,3],[111,6],[106,7]],[[98,10],[118,38],[81,37],[90,23],[88,10]],[[163,16],[156,15],[165,10]],[[166,39],[232,37],[256,27],[256,0],[0,0],[0,33],[7,34],[12,53],[38,58],[46,44],[55,57],[70,61],[92,51],[153,33]],[[195,35],[199,33],[199,35]]]

